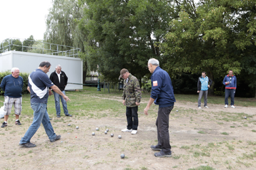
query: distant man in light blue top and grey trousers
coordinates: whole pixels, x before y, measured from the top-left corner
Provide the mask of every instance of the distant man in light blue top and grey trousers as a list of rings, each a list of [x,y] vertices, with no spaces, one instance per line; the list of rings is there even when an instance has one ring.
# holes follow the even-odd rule
[[[210,83],[210,85],[208,83]],[[207,106],[207,94],[208,94],[208,88],[210,88],[211,85],[212,85],[212,80],[210,78],[208,78],[206,76],[206,72],[203,71],[202,76],[200,78],[198,78],[198,81],[197,81],[197,92],[199,93],[198,109],[202,109],[202,107],[201,107],[202,95],[204,95],[204,102],[205,102],[204,107],[209,108]]]

